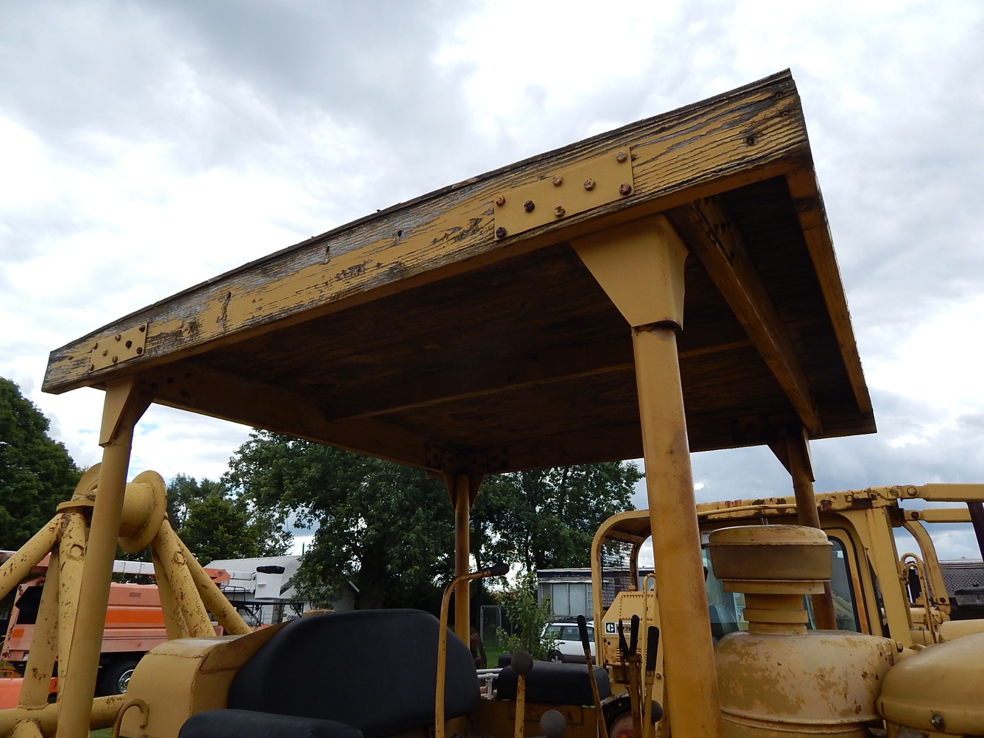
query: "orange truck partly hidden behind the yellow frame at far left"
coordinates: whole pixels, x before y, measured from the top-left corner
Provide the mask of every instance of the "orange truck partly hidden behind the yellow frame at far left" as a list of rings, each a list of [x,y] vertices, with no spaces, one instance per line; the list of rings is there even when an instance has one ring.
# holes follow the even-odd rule
[[[0,552],[0,561],[3,554]],[[43,572],[46,561],[38,567]],[[153,576],[151,564],[134,561],[116,561],[113,571],[132,576]],[[219,586],[228,582],[224,570],[207,569]],[[0,646],[0,661],[11,671],[0,678],[0,708],[16,707],[21,694],[22,679],[28,652],[31,650],[34,621],[41,599],[39,576],[21,584],[17,589],[14,607],[6,637]],[[164,629],[164,613],[160,609],[160,595],[156,584],[118,584],[109,587],[109,605],[106,608],[106,625],[102,632],[102,648],[99,657],[99,677],[96,695],[115,695],[126,691],[130,675],[141,657],[154,646],[167,639]],[[57,675],[57,665],[55,666]],[[57,689],[57,679],[51,680],[51,692]]]

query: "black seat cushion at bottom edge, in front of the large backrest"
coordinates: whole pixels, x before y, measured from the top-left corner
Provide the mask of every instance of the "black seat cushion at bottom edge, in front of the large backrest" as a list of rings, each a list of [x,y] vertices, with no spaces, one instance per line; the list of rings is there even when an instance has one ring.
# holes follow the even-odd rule
[[[178,738],[363,738],[351,725],[249,709],[209,709],[192,715]]]

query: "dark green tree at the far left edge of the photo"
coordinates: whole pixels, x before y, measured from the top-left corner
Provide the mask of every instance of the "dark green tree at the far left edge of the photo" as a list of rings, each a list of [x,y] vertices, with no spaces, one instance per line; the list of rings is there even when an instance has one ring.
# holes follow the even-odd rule
[[[81,471],[48,419],[0,377],[0,548],[20,548],[72,496]]]

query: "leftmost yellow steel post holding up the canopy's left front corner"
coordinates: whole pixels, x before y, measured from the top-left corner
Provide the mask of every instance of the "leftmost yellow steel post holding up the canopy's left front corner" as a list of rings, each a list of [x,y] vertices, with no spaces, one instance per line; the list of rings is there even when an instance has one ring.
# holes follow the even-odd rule
[[[107,383],[99,431],[102,464],[72,633],[72,671],[67,679],[59,680],[62,695],[57,738],[89,735],[133,431],[149,404],[150,399],[137,392],[136,378]]]

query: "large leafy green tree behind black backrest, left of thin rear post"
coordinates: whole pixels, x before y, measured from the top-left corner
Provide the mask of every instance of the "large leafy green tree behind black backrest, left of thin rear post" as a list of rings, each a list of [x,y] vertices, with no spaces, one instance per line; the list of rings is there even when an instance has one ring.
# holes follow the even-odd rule
[[[223,480],[279,520],[318,524],[294,576],[328,604],[348,583],[358,607],[436,610],[454,571],[454,514],[420,469],[266,431],[254,432]]]

